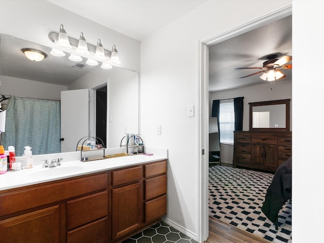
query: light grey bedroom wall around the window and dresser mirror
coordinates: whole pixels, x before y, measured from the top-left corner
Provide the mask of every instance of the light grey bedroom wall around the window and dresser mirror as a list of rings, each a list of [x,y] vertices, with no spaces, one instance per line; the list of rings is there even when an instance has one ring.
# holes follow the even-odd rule
[[[290,130],[292,130],[292,80],[280,80],[274,83],[255,85],[244,88],[211,92],[209,94],[209,112],[211,116],[213,100],[244,97],[243,131],[249,131],[251,102],[291,99],[290,105]],[[233,164],[233,145],[221,144],[221,161]]]

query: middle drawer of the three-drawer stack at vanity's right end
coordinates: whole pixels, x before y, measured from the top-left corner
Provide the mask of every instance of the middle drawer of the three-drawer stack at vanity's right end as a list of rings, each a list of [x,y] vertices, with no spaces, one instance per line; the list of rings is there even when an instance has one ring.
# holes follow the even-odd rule
[[[167,193],[167,175],[145,180],[145,200]]]

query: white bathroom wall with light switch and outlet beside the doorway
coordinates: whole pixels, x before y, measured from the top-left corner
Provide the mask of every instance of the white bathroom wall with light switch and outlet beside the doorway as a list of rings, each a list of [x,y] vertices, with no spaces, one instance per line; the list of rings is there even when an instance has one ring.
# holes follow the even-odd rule
[[[208,1],[141,44],[141,131],[169,149],[167,220],[199,237],[198,43],[291,1]],[[266,6],[266,7],[265,7]],[[187,117],[187,106],[195,116]],[[156,126],[161,125],[161,135]]]

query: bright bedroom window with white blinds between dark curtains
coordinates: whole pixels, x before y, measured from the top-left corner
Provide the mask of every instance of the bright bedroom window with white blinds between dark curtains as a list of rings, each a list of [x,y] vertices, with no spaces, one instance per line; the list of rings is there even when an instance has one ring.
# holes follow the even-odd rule
[[[220,143],[234,144],[234,101],[219,104]]]

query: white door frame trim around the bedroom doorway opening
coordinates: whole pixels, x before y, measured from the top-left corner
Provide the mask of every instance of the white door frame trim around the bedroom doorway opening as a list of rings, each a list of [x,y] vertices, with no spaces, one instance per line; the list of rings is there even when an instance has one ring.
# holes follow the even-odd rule
[[[209,47],[293,14],[292,4],[203,41],[198,40],[198,234],[199,242],[209,236],[208,152],[209,152]]]

